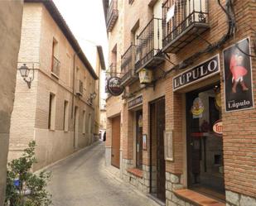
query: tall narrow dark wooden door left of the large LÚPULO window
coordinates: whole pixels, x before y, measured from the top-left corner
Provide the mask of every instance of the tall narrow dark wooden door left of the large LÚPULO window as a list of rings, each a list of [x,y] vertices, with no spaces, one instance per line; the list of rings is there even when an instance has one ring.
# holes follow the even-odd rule
[[[157,198],[166,200],[166,162],[164,159],[165,99],[156,103],[157,116]]]

